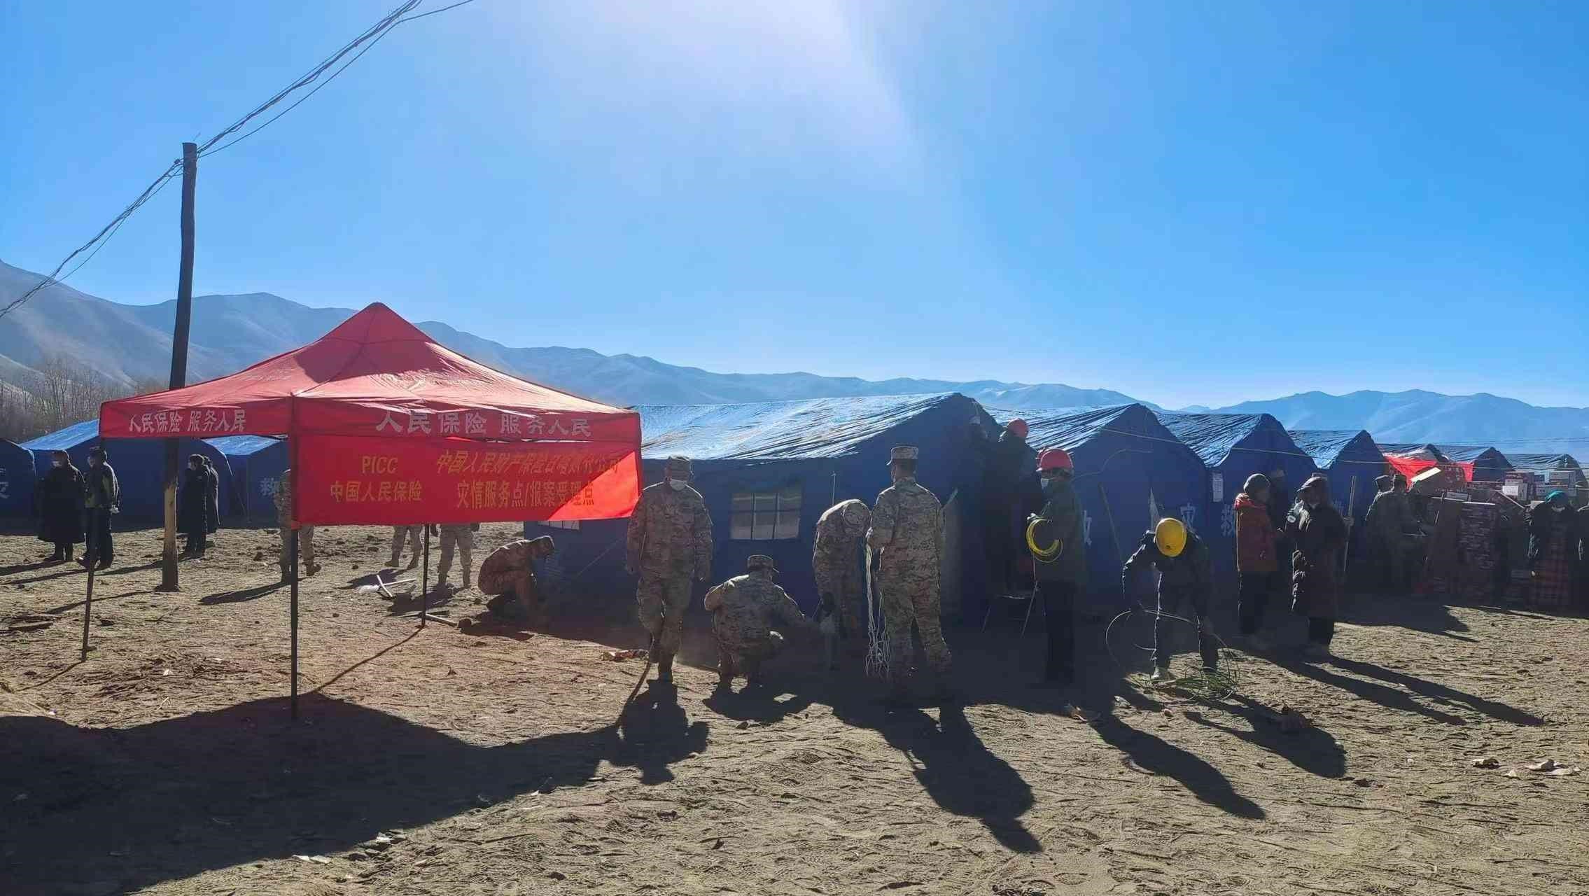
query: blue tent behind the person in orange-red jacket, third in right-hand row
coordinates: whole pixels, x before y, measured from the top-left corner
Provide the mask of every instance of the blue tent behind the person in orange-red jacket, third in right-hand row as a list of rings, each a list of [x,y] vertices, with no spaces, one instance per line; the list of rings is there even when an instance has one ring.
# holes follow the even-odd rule
[[[1197,451],[1208,470],[1204,510],[1193,524],[1214,553],[1216,583],[1235,588],[1236,515],[1231,502],[1243,483],[1252,473],[1282,470],[1289,500],[1317,465],[1281,421],[1266,413],[1160,413],[1158,419]]]

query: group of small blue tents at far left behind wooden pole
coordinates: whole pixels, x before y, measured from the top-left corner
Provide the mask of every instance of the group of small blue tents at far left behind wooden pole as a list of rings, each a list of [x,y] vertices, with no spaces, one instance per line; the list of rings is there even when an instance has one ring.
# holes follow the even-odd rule
[[[49,472],[51,454],[65,451],[78,469],[86,469],[89,448],[100,445],[99,421],[89,419],[17,445],[0,438],[0,519],[33,515],[33,491]],[[121,481],[118,526],[153,526],[162,519],[165,443],[156,438],[103,440],[110,462]],[[276,478],[288,467],[286,442],[262,435],[183,438],[178,451],[203,454],[221,473],[221,512],[227,519],[275,519]]]

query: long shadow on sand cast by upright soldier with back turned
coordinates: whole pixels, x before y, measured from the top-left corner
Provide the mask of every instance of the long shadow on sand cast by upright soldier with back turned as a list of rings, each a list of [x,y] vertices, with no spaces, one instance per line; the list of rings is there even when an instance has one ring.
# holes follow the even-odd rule
[[[1033,805],[1031,785],[982,743],[958,705],[942,707],[938,721],[918,709],[890,712],[861,701],[837,701],[833,713],[877,731],[904,753],[915,780],[945,812],[982,821],[1009,850],[1042,852],[1020,821]]]

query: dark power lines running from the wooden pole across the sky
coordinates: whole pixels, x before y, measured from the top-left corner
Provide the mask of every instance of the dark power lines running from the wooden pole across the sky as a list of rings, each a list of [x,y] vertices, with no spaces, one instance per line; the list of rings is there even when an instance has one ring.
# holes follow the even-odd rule
[[[331,81],[334,81],[337,78],[337,75],[342,75],[348,68],[348,65],[353,65],[354,62],[358,62],[361,56],[364,56],[365,52],[369,52],[370,48],[375,46],[383,37],[386,37],[394,27],[397,27],[397,25],[400,25],[404,22],[412,22],[415,19],[423,19],[426,16],[434,16],[437,13],[445,13],[448,10],[456,10],[458,6],[464,6],[467,3],[474,3],[474,0],[459,0],[458,3],[451,3],[451,5],[442,6],[439,10],[431,10],[429,13],[410,14],[423,2],[424,0],[405,0],[402,5],[399,5],[391,13],[386,13],[385,16],[381,16],[373,25],[370,25],[369,29],[365,29],[364,32],[361,32],[356,38],[353,38],[351,41],[348,41],[346,44],[343,44],[337,52],[334,52],[329,57],[326,57],[324,60],[321,60],[319,65],[315,65],[313,68],[310,68],[308,71],[305,71],[303,75],[300,75],[296,81],[292,81],[291,84],[288,84],[281,91],[276,91],[276,94],[273,94],[264,103],[259,103],[257,106],[254,106],[248,114],[245,114],[243,118],[237,119],[235,122],[232,122],[230,126],[227,126],[224,130],[221,130],[219,133],[216,133],[210,140],[203,141],[199,146],[200,156],[210,156],[213,153],[219,153],[221,149],[226,149],[229,146],[235,146],[237,143],[240,143],[240,141],[253,137],[254,133],[259,133],[261,130],[264,130],[265,127],[269,127],[270,124],[273,124],[275,121],[278,121],[281,116],[284,116],[286,113],[289,113],[294,108],[297,108],[299,103],[302,103],[303,100],[307,100],[307,98],[313,97],[315,94],[318,94],[321,87],[324,87],[326,84],[329,84]],[[361,46],[362,46],[362,49],[359,49]],[[329,78],[326,78],[324,81],[319,81],[319,78],[327,70],[331,70],[334,65],[337,65],[337,62],[340,59],[346,57],[354,49],[359,49],[359,52],[356,52],[353,56],[353,59],[348,59],[335,71],[332,71],[332,75]],[[256,118],[259,118],[261,114],[264,114],[270,108],[273,108],[278,103],[281,103],[283,100],[286,100],[294,92],[297,92],[297,91],[300,91],[300,89],[313,84],[315,81],[319,81],[319,84],[315,86],[313,91],[310,91],[308,94],[303,94],[302,97],[299,97],[292,105],[289,105],[288,108],[284,108],[280,113],[273,114],[264,124],[254,127],[253,130],[245,132],[243,135],[237,137],[235,140],[229,140],[224,145],[216,146],[216,143],[219,143],[226,137],[229,137],[232,133],[237,133],[248,122],[254,121]],[[0,308],[0,318],[5,318],[6,315],[10,315],[11,311],[14,311],[16,308],[21,308],[29,299],[32,299],[33,295],[37,295],[41,289],[44,289],[46,286],[51,286],[51,284],[64,281],[67,276],[72,276],[83,265],[86,265],[89,261],[92,261],[94,256],[99,254],[99,251],[102,248],[105,248],[105,243],[108,243],[110,238],[114,237],[118,230],[121,230],[121,226],[127,221],[127,218],[130,218],[132,213],[137,211],[138,208],[141,208],[146,202],[149,202],[151,199],[154,199],[154,195],[157,192],[160,192],[160,189],[167,184],[167,181],[170,181],[172,178],[175,178],[180,172],[181,172],[181,160],[178,159],[178,160],[172,162],[170,167],[167,167],[165,172],[160,173],[160,176],[154,178],[154,181],[148,187],[145,187],[141,194],[138,194],[138,199],[132,200],[132,203],[127,205],[127,208],[124,208],[121,211],[121,214],[118,214],[108,224],[105,224],[103,227],[100,227],[99,234],[95,234],[92,240],[89,240],[87,243],[83,243],[81,246],[78,246],[76,249],[73,249],[72,254],[68,254],[65,259],[60,261],[60,264],[56,265],[56,270],[49,272],[48,276],[44,276],[43,280],[40,280],[38,283],[35,283],[32,289],[29,289],[22,295],[19,295],[16,300],[13,300],[6,307]],[[83,253],[89,253],[89,256],[86,259],[83,259],[81,262],[78,262],[78,265],[73,267],[70,272],[67,272],[65,276],[60,276],[60,272],[68,264],[72,264],[72,259],[81,256]]]

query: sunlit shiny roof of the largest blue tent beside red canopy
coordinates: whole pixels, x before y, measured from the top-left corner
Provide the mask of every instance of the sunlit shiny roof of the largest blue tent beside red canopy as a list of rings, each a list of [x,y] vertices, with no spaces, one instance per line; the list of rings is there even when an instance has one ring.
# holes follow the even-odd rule
[[[949,399],[866,396],[740,405],[640,405],[645,458],[791,461],[842,458]],[[969,419],[969,418],[968,418]]]

